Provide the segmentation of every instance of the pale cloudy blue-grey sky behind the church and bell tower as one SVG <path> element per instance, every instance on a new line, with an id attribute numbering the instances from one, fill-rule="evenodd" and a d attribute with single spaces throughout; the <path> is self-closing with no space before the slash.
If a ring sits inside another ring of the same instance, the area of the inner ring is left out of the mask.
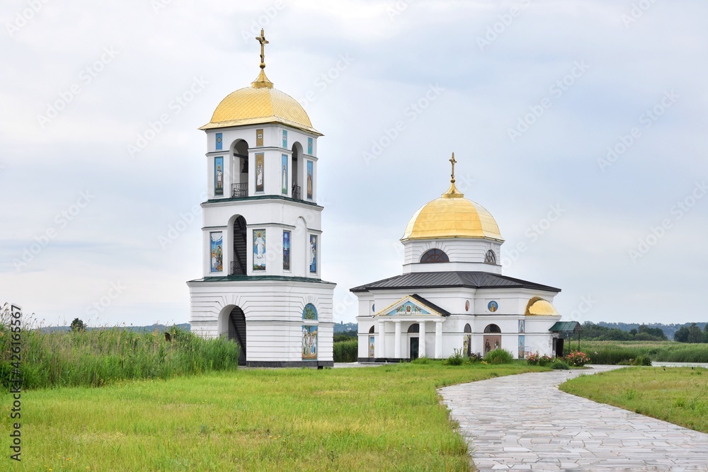
<path id="1" fill-rule="evenodd" d="M 577 321 L 707 321 L 704 0 L 6 0 L 0 303 L 45 325 L 189 321 L 206 139 L 258 76 L 316 129 L 322 277 L 401 273 L 457 185 L 505 275 Z M 160 122 L 166 116 L 166 122 Z M 136 151 L 137 149 L 137 151 Z"/>

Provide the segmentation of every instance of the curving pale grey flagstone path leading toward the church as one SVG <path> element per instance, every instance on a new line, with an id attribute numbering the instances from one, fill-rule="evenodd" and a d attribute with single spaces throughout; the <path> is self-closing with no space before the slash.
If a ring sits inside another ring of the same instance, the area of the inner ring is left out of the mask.
<path id="1" fill-rule="evenodd" d="M 616 368 L 510 375 L 440 394 L 480 471 L 708 471 L 708 434 L 556 388 Z"/>

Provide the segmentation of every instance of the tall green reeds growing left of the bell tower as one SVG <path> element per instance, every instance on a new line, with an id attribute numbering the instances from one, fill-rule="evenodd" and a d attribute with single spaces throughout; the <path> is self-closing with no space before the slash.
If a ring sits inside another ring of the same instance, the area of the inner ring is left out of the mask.
<path id="1" fill-rule="evenodd" d="M 239 345 L 205 340 L 173 328 L 164 333 L 121 328 L 90 331 L 25 330 L 21 333 L 21 375 L 25 388 L 102 386 L 121 379 L 171 379 L 212 370 L 234 370 Z M 11 377 L 11 333 L 0 326 L 0 389 Z"/>

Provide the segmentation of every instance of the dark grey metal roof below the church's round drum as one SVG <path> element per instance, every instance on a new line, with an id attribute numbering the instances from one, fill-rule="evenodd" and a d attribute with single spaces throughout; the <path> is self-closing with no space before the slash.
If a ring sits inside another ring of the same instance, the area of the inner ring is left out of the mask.
<path id="1" fill-rule="evenodd" d="M 351 292 L 368 292 L 385 289 L 432 289 L 446 287 L 467 287 L 472 289 L 536 289 L 546 292 L 560 292 L 561 289 L 548 285 L 527 282 L 490 272 L 413 272 L 396 275 L 388 279 L 354 287 Z"/>

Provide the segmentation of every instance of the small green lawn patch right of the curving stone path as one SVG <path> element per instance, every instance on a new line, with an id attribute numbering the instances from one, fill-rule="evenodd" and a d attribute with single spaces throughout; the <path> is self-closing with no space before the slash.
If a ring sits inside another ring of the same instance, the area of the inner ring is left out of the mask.
<path id="1" fill-rule="evenodd" d="M 573 395 L 615 405 L 708 432 L 708 370 L 697 367 L 627 367 L 585 375 L 559 387 Z"/>

